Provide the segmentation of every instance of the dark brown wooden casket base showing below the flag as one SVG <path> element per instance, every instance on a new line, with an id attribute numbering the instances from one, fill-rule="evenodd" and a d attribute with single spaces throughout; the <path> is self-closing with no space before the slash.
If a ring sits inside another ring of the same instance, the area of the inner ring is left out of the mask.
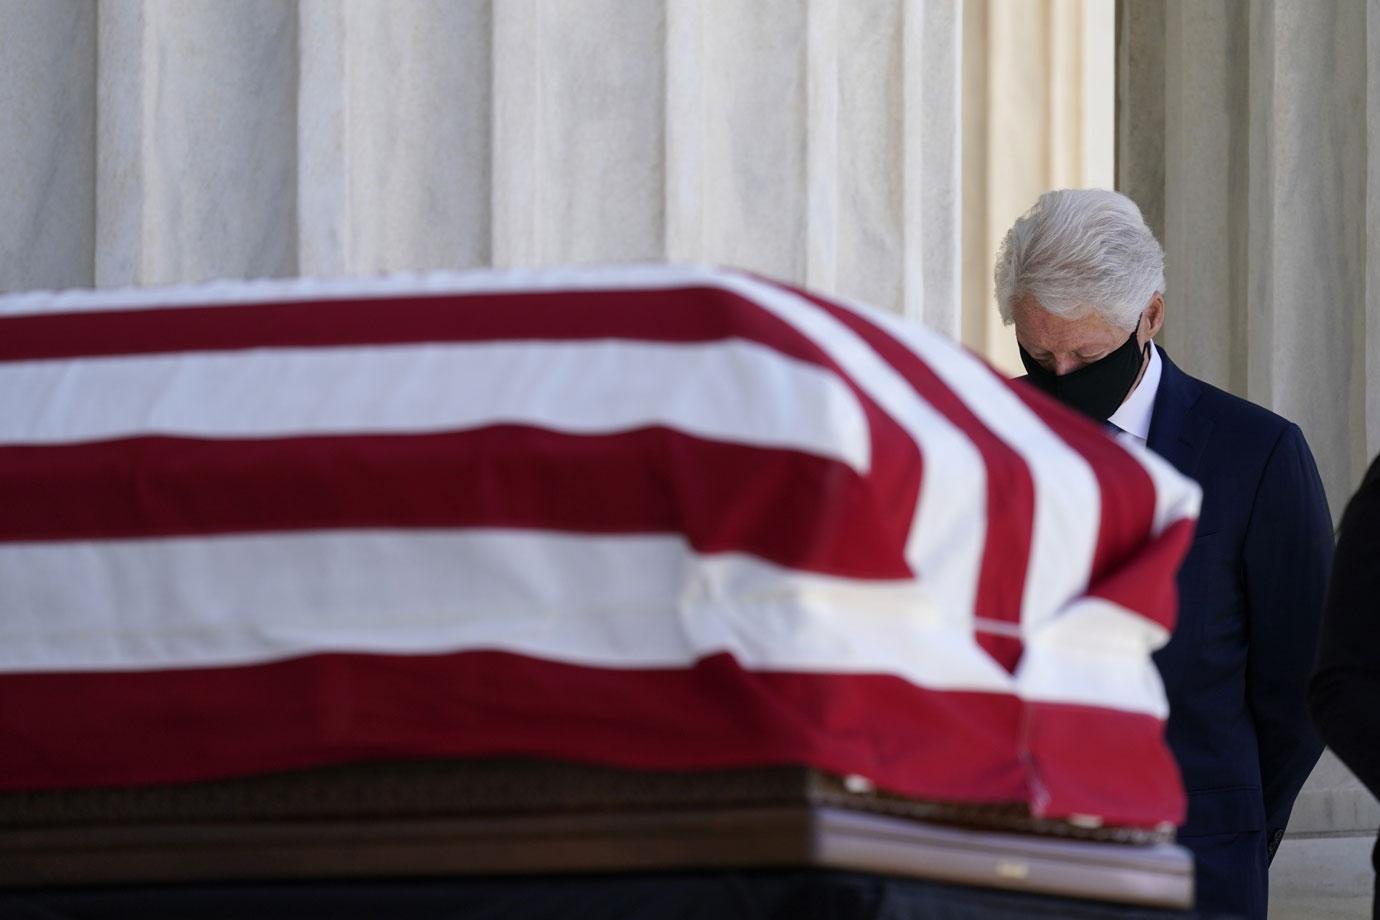
<path id="1" fill-rule="evenodd" d="M 1014 807 L 878 794 L 799 767 L 357 764 L 0 793 L 0 886 L 814 866 L 1185 908 L 1187 851 Z"/>

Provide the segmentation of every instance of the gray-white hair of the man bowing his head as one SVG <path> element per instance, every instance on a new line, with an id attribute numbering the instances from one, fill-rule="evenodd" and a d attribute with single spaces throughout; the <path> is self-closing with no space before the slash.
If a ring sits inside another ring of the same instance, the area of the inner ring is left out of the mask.
<path id="1" fill-rule="evenodd" d="M 995 280 L 1007 326 L 1016 302 L 1032 297 L 1056 316 L 1092 308 L 1130 331 L 1165 291 L 1165 252 L 1125 194 L 1061 189 L 1039 196 L 1006 232 Z"/>

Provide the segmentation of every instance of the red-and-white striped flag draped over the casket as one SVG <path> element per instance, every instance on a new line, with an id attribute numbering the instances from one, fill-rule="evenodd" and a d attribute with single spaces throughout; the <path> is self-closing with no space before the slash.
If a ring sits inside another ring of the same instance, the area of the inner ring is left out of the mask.
<path id="1" fill-rule="evenodd" d="M 0 298 L 0 789 L 518 754 L 1174 822 L 1196 508 L 741 273 Z"/>

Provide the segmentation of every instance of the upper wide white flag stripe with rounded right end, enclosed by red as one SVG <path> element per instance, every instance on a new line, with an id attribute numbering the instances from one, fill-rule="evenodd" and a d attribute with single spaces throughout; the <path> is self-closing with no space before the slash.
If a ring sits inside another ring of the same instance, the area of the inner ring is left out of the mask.
<path id="1" fill-rule="evenodd" d="M 253 349 L 0 363 L 0 443 L 275 437 L 516 423 L 664 425 L 865 473 L 871 440 L 832 371 L 748 341 L 595 339 Z"/>

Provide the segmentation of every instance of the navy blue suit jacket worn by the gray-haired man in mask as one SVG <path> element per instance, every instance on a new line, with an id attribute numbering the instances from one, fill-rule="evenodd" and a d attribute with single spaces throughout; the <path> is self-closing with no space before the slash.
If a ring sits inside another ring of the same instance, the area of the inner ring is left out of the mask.
<path id="1" fill-rule="evenodd" d="M 1179 626 L 1155 657 L 1188 792 L 1181 837 L 1264 830 L 1272 854 L 1322 753 L 1305 697 L 1332 516 L 1297 425 L 1161 357 L 1148 447 L 1203 488 Z"/>

